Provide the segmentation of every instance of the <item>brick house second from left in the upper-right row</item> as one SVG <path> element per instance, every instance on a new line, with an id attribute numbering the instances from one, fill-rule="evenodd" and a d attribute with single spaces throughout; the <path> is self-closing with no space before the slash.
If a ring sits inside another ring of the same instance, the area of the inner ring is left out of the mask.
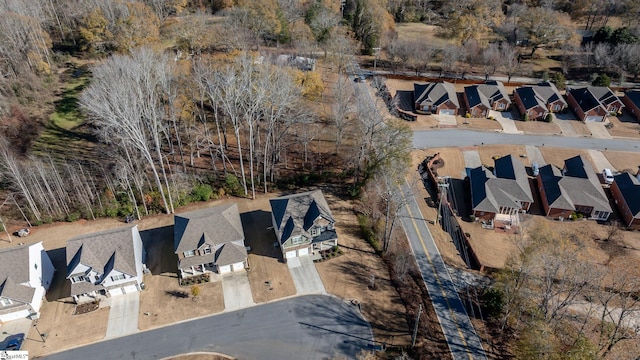
<path id="1" fill-rule="evenodd" d="M 511 107 L 511 99 L 501 81 L 466 86 L 463 98 L 467 113 L 476 118 L 488 117 L 490 110 L 506 111 Z"/>

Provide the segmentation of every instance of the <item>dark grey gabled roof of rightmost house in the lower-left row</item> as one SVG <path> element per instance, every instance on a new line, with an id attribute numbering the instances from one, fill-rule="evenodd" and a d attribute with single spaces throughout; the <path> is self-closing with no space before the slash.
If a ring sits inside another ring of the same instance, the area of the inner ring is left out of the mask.
<path id="1" fill-rule="evenodd" d="M 309 230 L 318 217 L 335 222 L 320 190 L 281 196 L 269 202 L 275 220 L 274 230 L 281 244 L 291 236 L 305 235 L 310 238 Z"/>

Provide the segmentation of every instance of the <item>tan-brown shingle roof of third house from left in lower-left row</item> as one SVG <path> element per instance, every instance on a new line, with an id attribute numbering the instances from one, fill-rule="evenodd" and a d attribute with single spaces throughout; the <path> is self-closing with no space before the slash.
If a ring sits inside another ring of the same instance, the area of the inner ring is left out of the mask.
<path id="1" fill-rule="evenodd" d="M 174 219 L 173 249 L 176 253 L 198 249 L 205 243 L 215 246 L 244 240 L 237 204 L 176 214 Z"/>

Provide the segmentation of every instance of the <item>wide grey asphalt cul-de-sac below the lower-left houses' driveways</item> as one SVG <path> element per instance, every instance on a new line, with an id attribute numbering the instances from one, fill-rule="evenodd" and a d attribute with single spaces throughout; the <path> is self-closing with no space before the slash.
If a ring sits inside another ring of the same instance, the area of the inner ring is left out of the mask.
<path id="1" fill-rule="evenodd" d="M 372 341 L 371 326 L 355 306 L 332 296 L 308 295 L 102 341 L 44 359 L 162 359 L 195 351 L 246 360 L 355 359 Z"/>

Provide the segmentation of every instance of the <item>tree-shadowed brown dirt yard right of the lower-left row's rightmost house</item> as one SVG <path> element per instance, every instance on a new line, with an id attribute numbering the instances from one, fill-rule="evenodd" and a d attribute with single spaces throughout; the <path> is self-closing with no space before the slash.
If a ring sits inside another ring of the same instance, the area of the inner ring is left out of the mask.
<path id="1" fill-rule="evenodd" d="M 334 196 L 327 196 L 327 201 L 336 219 L 338 243 L 344 254 L 316 263 L 325 289 L 342 299 L 358 300 L 377 340 L 406 346 L 410 343 L 410 330 L 405 308 L 386 264 L 362 238 L 353 204 Z M 369 287 L 373 276 L 375 290 Z"/>

